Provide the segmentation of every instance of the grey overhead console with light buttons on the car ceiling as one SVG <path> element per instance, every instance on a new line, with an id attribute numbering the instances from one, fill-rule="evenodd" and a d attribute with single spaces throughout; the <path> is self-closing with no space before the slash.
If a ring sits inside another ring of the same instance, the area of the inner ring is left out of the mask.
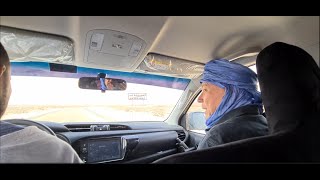
<path id="1" fill-rule="evenodd" d="M 142 39 L 123 32 L 102 29 L 87 33 L 84 62 L 129 70 L 146 47 Z"/>

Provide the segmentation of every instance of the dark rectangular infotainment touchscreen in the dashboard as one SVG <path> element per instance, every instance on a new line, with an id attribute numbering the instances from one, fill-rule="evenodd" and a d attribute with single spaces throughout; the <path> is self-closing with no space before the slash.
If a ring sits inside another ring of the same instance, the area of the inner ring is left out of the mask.
<path id="1" fill-rule="evenodd" d="M 91 139 L 88 141 L 88 163 L 121 159 L 121 139 Z"/>

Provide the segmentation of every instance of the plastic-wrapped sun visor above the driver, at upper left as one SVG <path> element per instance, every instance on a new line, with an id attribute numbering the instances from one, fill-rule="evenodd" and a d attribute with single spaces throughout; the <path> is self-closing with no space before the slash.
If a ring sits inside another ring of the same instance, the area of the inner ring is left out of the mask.
<path id="1" fill-rule="evenodd" d="M 66 37 L 0 26 L 0 40 L 10 61 L 73 64 L 74 45 Z"/>

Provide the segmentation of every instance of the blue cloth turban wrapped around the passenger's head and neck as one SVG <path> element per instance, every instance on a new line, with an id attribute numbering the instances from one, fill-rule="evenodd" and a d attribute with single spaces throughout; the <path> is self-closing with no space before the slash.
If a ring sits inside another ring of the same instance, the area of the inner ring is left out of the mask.
<path id="1" fill-rule="evenodd" d="M 257 91 L 257 74 L 248 67 L 227 60 L 212 60 L 204 67 L 201 83 L 225 89 L 216 111 L 207 119 L 207 128 L 215 125 L 227 112 L 245 105 L 258 105 L 262 113 L 261 94 Z"/>

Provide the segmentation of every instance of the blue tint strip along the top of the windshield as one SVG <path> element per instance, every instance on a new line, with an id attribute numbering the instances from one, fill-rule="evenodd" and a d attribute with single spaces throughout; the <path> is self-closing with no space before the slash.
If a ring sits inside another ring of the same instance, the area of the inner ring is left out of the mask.
<path id="1" fill-rule="evenodd" d="M 190 79 L 175 78 L 151 74 L 119 72 L 104 69 L 77 67 L 77 73 L 50 71 L 49 63 L 45 62 L 11 62 L 13 76 L 40 76 L 40 77 L 96 77 L 98 73 L 106 73 L 109 78 L 124 79 L 128 83 L 154 85 L 185 90 Z"/>

